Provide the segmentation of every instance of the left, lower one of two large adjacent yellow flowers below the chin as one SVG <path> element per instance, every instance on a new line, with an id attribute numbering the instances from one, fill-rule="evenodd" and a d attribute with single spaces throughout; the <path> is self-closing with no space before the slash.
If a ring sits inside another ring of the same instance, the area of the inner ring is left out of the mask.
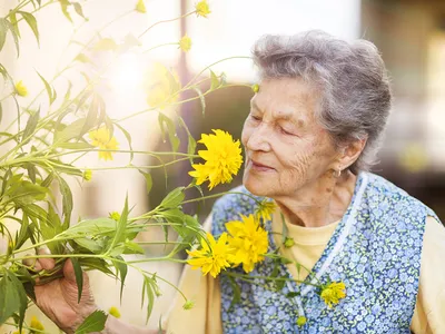
<path id="1" fill-rule="evenodd" d="M 208 244 L 202 238 L 201 249 L 187 250 L 190 258 L 187 261 L 194 269 L 201 268 L 202 275 L 210 273 L 216 277 L 218 274 L 230 266 L 228 259 L 230 257 L 230 248 L 227 245 L 227 233 L 222 233 L 218 242 L 214 236 L 207 233 Z"/>

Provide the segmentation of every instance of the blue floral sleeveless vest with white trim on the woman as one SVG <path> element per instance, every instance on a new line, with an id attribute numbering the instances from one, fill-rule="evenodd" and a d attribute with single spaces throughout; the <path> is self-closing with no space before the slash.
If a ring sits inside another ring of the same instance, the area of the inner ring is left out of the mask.
<path id="1" fill-rule="evenodd" d="M 247 193 L 243 187 L 237 190 Z M 226 222 L 253 214 L 255 208 L 248 196 L 224 196 L 214 206 L 212 234 L 221 234 Z M 428 215 L 436 217 L 424 204 L 384 178 L 360 173 L 352 203 L 313 268 L 315 277 L 312 276 L 314 283 L 343 281 L 346 298 L 328 308 L 310 285 L 288 281 L 278 289 L 271 281 L 257 278 L 258 284 L 251 284 L 235 279 L 241 301 L 230 306 L 234 287 L 222 274 L 224 332 L 409 333 Z M 270 223 L 265 224 L 269 232 Z M 269 233 L 269 252 L 276 248 Z M 250 275 L 270 276 L 273 269 L 273 261 L 266 258 Z M 285 265 L 280 264 L 278 269 L 279 276 L 291 277 Z M 244 273 L 240 267 L 230 271 Z M 293 294 L 288 295 L 289 292 Z M 303 326 L 296 324 L 299 315 L 307 318 Z"/>

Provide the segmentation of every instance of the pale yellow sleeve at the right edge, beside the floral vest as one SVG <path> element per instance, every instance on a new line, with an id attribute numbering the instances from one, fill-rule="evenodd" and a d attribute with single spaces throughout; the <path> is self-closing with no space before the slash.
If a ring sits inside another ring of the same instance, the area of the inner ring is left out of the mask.
<path id="1" fill-rule="evenodd" d="M 421 279 L 412 321 L 415 334 L 445 333 L 445 227 L 426 218 Z"/>

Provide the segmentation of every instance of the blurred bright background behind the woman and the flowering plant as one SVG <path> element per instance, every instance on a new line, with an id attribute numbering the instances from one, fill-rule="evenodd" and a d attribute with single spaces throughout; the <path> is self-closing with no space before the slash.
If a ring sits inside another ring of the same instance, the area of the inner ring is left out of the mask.
<path id="1" fill-rule="evenodd" d="M 16 6 L 16 1 L 0 0 L 0 14 Z M 42 1 L 44 3 L 46 1 Z M 52 1 L 57 2 L 57 1 Z M 29 100 L 42 88 L 36 73 L 52 77 L 79 52 L 73 40 L 88 40 L 95 31 L 122 12 L 131 11 L 136 0 L 88 0 L 80 1 L 88 22 L 75 19 L 69 22 L 53 3 L 37 13 L 40 29 L 40 49 L 32 32 L 22 29 L 21 55 L 17 58 L 10 36 L 0 57 L 12 77 L 26 82 L 30 91 Z M 147 13 L 131 13 L 109 26 L 102 37 L 122 40 L 128 33 L 139 36 L 147 27 L 159 20 L 169 20 L 192 10 L 192 0 L 147 0 Z M 264 33 L 296 33 L 308 29 L 322 29 L 346 40 L 364 38 L 373 41 L 382 51 L 389 70 L 395 96 L 394 110 L 380 151 L 380 163 L 374 173 L 382 175 L 404 188 L 432 207 L 445 222 L 445 2 L 442 0 L 210 0 L 208 19 L 188 17 L 155 27 L 141 39 L 140 50 L 121 57 L 109 72 L 111 90 L 107 90 L 108 112 L 112 118 L 123 118 L 130 112 L 146 108 L 144 80 L 148 69 L 156 62 L 172 67 L 181 82 L 197 75 L 206 66 L 226 57 L 249 56 L 254 41 Z M 32 9 L 32 8 L 31 8 Z M 192 40 L 191 50 L 180 52 L 177 46 L 166 46 L 149 55 L 144 50 L 159 43 L 175 42 L 187 33 Z M 100 59 L 101 60 L 101 59 Z M 82 85 L 79 75 L 86 68 L 77 68 L 67 78 L 73 85 Z M 256 82 L 255 69 L 248 59 L 231 59 L 212 68 L 225 72 L 228 84 Z M 206 72 L 205 75 L 208 75 Z M 56 89 L 65 89 L 67 80 L 55 82 Z M 3 87 L 3 89 L 6 89 Z M 194 94 L 186 96 L 192 97 Z M 219 128 L 240 138 L 243 121 L 249 112 L 253 92 L 248 86 L 229 87 L 206 97 L 206 116 L 202 117 L 198 100 L 181 106 L 181 115 L 196 139 L 202 132 Z M 10 105 L 9 105 L 10 104 Z M 1 126 L 11 121 L 13 102 L 4 101 Z M 47 98 L 36 101 L 41 106 Z M 166 110 L 166 112 L 169 112 Z M 128 119 L 122 126 L 131 132 L 134 149 L 169 150 L 169 143 L 160 135 L 157 114 L 145 114 Z M 178 132 L 181 150 L 186 150 L 186 137 Z M 125 143 L 125 138 L 119 138 Z M 97 156 L 86 157 L 79 166 L 110 167 L 125 166 L 128 155 L 117 155 L 112 163 L 97 160 Z M 137 156 L 135 164 L 150 165 L 147 156 Z M 140 214 L 156 206 L 165 195 L 177 186 L 190 181 L 187 173 L 189 164 L 177 164 L 168 168 L 168 180 L 164 171 L 154 169 L 154 186 L 146 193 L 144 177 L 136 170 L 95 170 L 89 183 L 71 185 L 76 188 L 75 217 L 108 216 L 121 210 L 128 191 L 134 214 Z M 218 186 L 217 191 L 228 190 L 241 183 L 241 173 L 228 186 Z M 189 194 L 189 198 L 199 193 Z M 204 222 L 212 200 L 190 205 L 186 210 L 198 214 Z M 75 220 L 73 220 L 75 222 Z M 161 232 L 150 232 L 141 236 L 150 240 L 159 238 Z M 159 255 L 162 249 L 147 248 L 146 256 Z M 176 283 L 180 266 L 170 263 L 151 264 L 160 276 L 168 276 Z M 137 273 L 130 273 L 119 305 L 119 288 L 113 281 L 101 275 L 92 275 L 92 285 L 98 303 L 103 308 L 118 306 L 122 317 L 144 324 L 145 311 L 139 308 L 140 283 Z M 156 326 L 159 316 L 171 304 L 174 292 L 164 286 L 165 294 L 156 304 L 150 325 Z"/>

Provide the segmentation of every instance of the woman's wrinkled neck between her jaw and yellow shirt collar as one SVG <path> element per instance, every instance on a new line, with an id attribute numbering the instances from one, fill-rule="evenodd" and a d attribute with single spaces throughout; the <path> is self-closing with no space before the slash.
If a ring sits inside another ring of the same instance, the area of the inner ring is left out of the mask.
<path id="1" fill-rule="evenodd" d="M 277 197 L 275 202 L 291 224 L 325 226 L 344 216 L 353 198 L 356 179 L 348 170 L 338 178 L 328 173 L 293 196 Z"/>

